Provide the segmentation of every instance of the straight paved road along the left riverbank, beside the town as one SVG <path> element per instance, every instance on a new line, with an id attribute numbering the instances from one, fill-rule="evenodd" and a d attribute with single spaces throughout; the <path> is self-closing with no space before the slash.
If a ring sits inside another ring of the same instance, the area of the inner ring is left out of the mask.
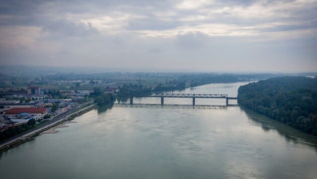
<path id="1" fill-rule="evenodd" d="M 3 147 L 3 146 L 5 146 L 5 145 L 7 145 L 7 144 L 9 144 L 9 143 L 11 143 L 11 142 L 14 142 L 14 141 L 16 141 L 16 140 L 19 139 L 19 138 L 28 136 L 28 135 L 32 134 L 34 131 L 39 130 L 39 129 L 43 129 L 43 128 L 45 128 L 45 127 L 51 125 L 52 123 L 55 123 L 55 122 L 57 122 L 57 121 L 60 121 L 61 119 L 65 118 L 66 116 L 68 116 L 68 115 L 71 114 L 72 112 L 74 112 L 74 111 L 80 109 L 82 106 L 85 106 L 85 105 L 87 105 L 87 104 L 89 104 L 89 103 L 92 103 L 92 101 L 87 102 L 87 103 L 84 103 L 84 104 L 81 104 L 81 105 L 78 105 L 78 106 L 75 107 L 75 108 L 71 108 L 71 109 L 67 110 L 65 113 L 62 113 L 62 114 L 60 114 L 60 115 L 58 115 L 58 116 L 53 117 L 50 121 L 48 121 L 48 122 L 46 122 L 46 123 L 44 123 L 44 124 L 42 124 L 42 125 L 40 125 L 40 126 L 38 126 L 38 127 L 36 127 L 36 128 L 33 128 L 33 129 L 28 130 L 28 131 L 26 131 L 26 132 L 23 132 L 23 133 L 20 133 L 20 134 L 18 134 L 18 135 L 15 135 L 15 136 L 13 136 L 13 137 L 11 137 L 11 138 L 9 138 L 9 139 L 6 139 L 6 140 L 4 140 L 4 141 L 1 141 L 1 142 L 0 142 L 0 147 Z"/>

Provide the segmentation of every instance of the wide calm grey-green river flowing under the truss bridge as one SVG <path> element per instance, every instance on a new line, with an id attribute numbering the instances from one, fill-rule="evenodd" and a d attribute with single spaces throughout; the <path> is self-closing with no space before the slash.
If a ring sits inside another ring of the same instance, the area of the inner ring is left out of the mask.
<path id="1" fill-rule="evenodd" d="M 175 93 L 236 97 L 243 84 L 207 84 Z M 161 99 L 134 99 L 134 104 L 143 103 L 161 104 Z M 58 133 L 40 135 L 1 153 L 0 177 L 317 176 L 315 136 L 239 106 L 219 107 L 225 105 L 224 99 L 196 99 L 195 108 L 190 106 L 192 99 L 166 98 L 165 104 L 116 104 L 90 111 Z"/>

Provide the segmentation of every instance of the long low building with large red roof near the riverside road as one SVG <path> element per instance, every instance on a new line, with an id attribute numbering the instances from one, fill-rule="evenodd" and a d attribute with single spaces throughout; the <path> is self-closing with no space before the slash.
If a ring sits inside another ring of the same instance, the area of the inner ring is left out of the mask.
<path id="1" fill-rule="evenodd" d="M 12 108 L 10 110 L 7 110 L 4 112 L 4 115 L 6 117 L 9 116 L 17 116 L 18 114 L 21 113 L 28 113 L 29 115 L 36 116 L 36 118 L 42 118 L 47 114 L 47 109 L 46 108 Z"/>

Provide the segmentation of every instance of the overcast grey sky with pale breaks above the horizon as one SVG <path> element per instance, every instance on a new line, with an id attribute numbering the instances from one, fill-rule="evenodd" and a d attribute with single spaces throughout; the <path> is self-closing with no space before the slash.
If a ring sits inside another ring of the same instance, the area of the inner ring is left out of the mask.
<path id="1" fill-rule="evenodd" d="M 317 0 L 1 1 L 0 60 L 140 71 L 316 72 Z"/>

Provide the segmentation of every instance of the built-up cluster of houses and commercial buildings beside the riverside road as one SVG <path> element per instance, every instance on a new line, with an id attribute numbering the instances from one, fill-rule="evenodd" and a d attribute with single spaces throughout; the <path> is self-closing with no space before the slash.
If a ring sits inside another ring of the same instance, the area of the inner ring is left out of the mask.
<path id="1" fill-rule="evenodd" d="M 1 132 L 14 127 L 15 132 L 13 133 L 18 133 L 21 131 L 21 127 L 23 130 L 26 125 L 31 127 L 45 123 L 52 117 L 87 102 L 89 95 L 89 91 L 50 93 L 41 86 L 31 85 L 27 86 L 26 94 L 23 88 L 19 93 L 11 91 L 0 99 Z"/>

